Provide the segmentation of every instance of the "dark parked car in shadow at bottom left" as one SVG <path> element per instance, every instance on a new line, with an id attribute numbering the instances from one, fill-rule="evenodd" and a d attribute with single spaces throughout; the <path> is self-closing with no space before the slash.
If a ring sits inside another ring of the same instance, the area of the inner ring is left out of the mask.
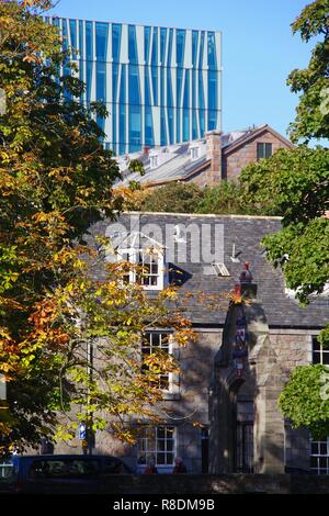
<path id="1" fill-rule="evenodd" d="M 132 473 L 111 456 L 14 456 L 0 478 L 0 492 L 100 493 L 106 475 Z"/>

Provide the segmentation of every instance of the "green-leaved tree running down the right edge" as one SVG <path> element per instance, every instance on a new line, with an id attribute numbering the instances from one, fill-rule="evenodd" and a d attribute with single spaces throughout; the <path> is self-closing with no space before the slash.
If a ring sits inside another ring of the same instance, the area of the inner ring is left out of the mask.
<path id="1" fill-rule="evenodd" d="M 317 0 L 292 24 L 303 41 L 318 38 L 308 67 L 292 71 L 287 80 L 292 91 L 299 93 L 291 137 L 303 145 L 280 150 L 241 173 L 248 202 L 264 202 L 283 217 L 282 229 L 266 236 L 263 246 L 302 304 L 321 294 L 329 280 L 329 152 L 306 145 L 311 138 L 329 136 L 328 21 L 329 1 Z M 329 325 L 318 339 L 329 345 Z M 280 399 L 293 425 L 309 428 L 317 438 L 329 434 L 329 395 L 321 394 L 324 379 L 328 382 L 322 366 L 298 368 Z"/>

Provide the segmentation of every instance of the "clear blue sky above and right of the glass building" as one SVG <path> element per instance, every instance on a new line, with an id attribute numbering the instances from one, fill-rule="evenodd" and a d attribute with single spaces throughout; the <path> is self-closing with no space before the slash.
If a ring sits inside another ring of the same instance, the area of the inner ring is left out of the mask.
<path id="1" fill-rule="evenodd" d="M 286 135 L 297 96 L 286 86 L 314 42 L 291 23 L 310 0 L 60 0 L 59 16 L 223 32 L 223 130 L 270 124 Z"/>

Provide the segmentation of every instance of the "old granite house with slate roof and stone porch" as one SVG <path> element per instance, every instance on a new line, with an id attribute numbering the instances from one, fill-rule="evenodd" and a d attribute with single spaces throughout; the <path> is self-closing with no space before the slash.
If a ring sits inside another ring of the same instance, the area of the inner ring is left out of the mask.
<path id="1" fill-rule="evenodd" d="M 158 242 L 144 288 L 154 295 L 177 284 L 197 336 L 196 343 L 180 348 L 171 328 L 148 332 L 141 355 L 144 348 L 161 349 L 180 363 L 180 372 L 166 379 L 156 407 L 161 424 L 145 420 L 133 447 L 117 441 L 110 428 L 97 433 L 95 453 L 123 457 L 138 472 L 148 459 L 159 473 L 171 472 L 180 456 L 190 473 L 329 474 L 329 439 L 315 441 L 306 430 L 293 429 L 277 407 L 297 366 L 329 363 L 329 350 L 317 341 L 329 317 L 328 289 L 300 307 L 260 247 L 262 237 L 280 227 L 280 217 L 174 213 L 122 214 L 114 223 L 90 227 L 90 246 L 97 235 L 105 235 L 118 256 L 129 260 L 143 256 L 144 238 Z M 173 233 L 163 242 L 170 228 Z M 136 232 L 140 238 L 131 239 Z M 216 235 L 219 253 L 212 257 Z M 139 247 L 128 249 L 129 240 Z M 226 294 L 239 283 L 245 262 L 250 263 L 252 284 L 246 303 L 235 304 Z M 208 305 L 204 295 L 218 296 L 218 302 Z M 78 436 L 69 448 L 56 449 L 68 450 L 81 453 Z"/>

